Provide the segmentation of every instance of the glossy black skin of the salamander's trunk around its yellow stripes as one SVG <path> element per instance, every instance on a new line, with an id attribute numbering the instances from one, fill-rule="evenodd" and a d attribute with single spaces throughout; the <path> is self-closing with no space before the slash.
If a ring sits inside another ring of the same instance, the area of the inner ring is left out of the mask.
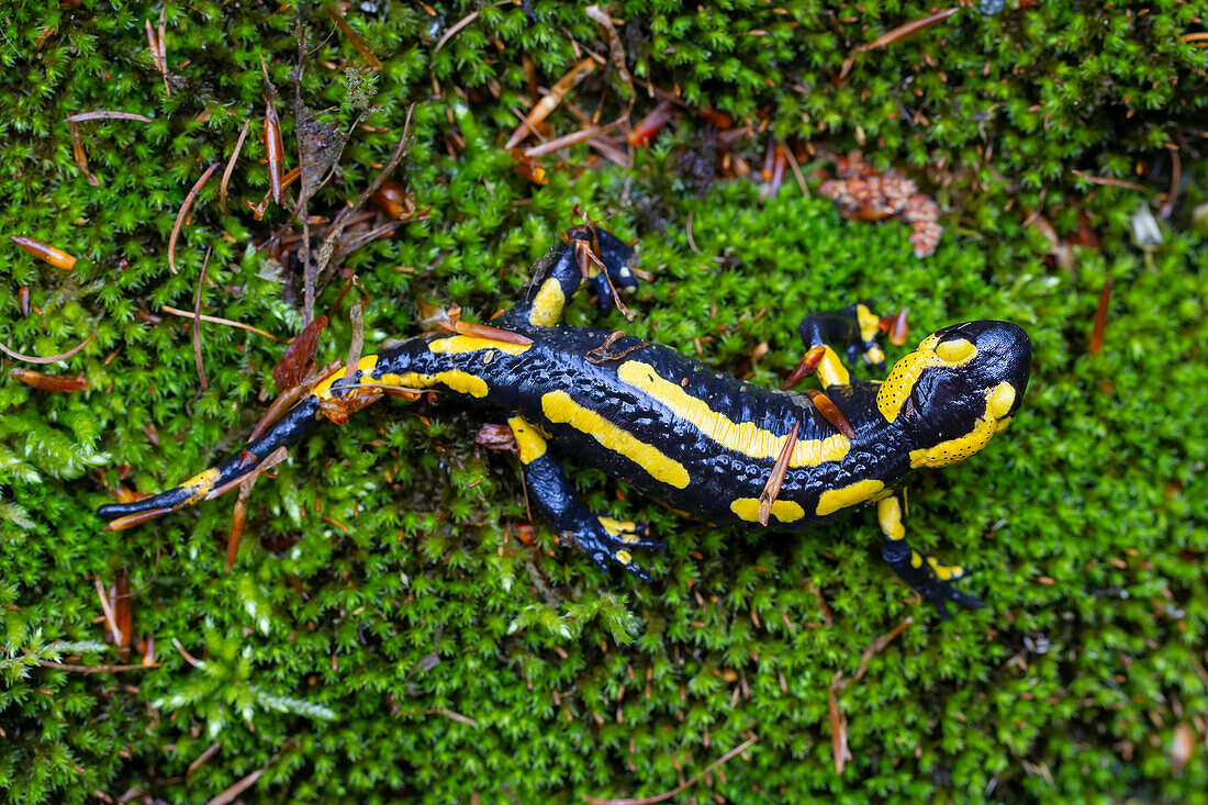
<path id="1" fill-rule="evenodd" d="M 731 511 L 730 502 L 736 497 L 757 498 L 776 457 L 755 459 L 721 447 L 676 417 L 666 405 L 617 378 L 616 367 L 620 364 L 650 364 L 661 377 L 676 386 L 686 378 L 687 384 L 681 386 L 685 392 L 704 400 L 713 410 L 725 412 L 734 422 L 754 422 L 782 436 L 789 434 L 794 422 L 798 422 L 800 440 L 826 439 L 836 434 L 806 394 L 777 392 L 739 381 L 663 346 L 644 346 L 618 360 L 593 365 L 583 355 L 599 347 L 609 336 L 609 330 L 528 325 L 509 329 L 532 337 L 533 347 L 521 355 L 495 352 L 490 363 L 483 365 L 482 353 L 445 355 L 428 352 L 430 341 L 446 336 L 417 338 L 382 353 L 373 376 L 408 371 L 436 373 L 451 367 L 472 372 L 490 387 L 490 395 L 484 400 L 487 405 L 518 413 L 539 425 L 548 434 L 551 447 L 614 477 L 625 479 L 674 509 L 719 523 L 741 522 Z M 615 342 L 611 348 L 623 352 L 644 343 L 631 336 Z M 855 429 L 852 450 L 842 462 L 790 469 L 778 499 L 796 500 L 808 512 L 814 510 L 818 496 L 826 490 L 869 477 L 879 479 L 888 486 L 906 473 L 910 468 L 905 452 L 907 440 L 876 413 L 876 383 L 854 381 L 848 388 L 827 393 Z M 623 423 L 625 430 L 635 439 L 680 462 L 692 482 L 678 490 L 657 481 L 640 464 L 605 448 L 591 435 L 568 424 L 551 422 L 541 406 L 541 396 L 551 389 L 565 390 L 583 407 L 610 422 Z M 472 398 L 465 399 L 474 401 Z M 807 516 L 788 525 L 773 521 L 771 527 L 792 531 L 821 519 Z"/>

